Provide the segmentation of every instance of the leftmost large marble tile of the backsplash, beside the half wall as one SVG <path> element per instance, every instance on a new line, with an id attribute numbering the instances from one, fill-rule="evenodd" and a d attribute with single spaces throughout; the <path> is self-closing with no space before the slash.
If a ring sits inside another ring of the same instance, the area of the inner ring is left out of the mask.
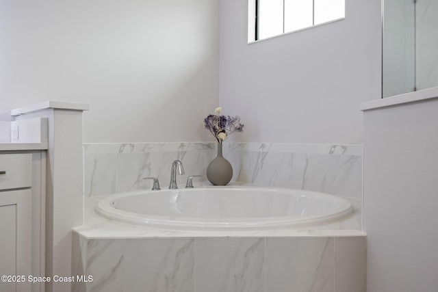
<path id="1" fill-rule="evenodd" d="M 117 191 L 116 153 L 85 153 L 83 167 L 86 197 L 114 194 Z"/>

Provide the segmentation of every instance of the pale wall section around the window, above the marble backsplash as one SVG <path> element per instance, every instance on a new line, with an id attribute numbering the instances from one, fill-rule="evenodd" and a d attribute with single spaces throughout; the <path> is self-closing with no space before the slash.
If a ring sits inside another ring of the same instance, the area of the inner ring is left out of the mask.
<path id="1" fill-rule="evenodd" d="M 346 19 L 247 44 L 247 0 L 220 1 L 220 104 L 247 142 L 362 143 L 359 103 L 381 96 L 381 1 Z"/>

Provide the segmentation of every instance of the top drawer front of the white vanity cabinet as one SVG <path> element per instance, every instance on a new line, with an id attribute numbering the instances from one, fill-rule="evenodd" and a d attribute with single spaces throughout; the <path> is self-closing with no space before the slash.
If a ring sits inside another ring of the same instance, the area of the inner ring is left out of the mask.
<path id="1" fill-rule="evenodd" d="M 0 154 L 0 190 L 30 187 L 31 184 L 31 153 Z"/>

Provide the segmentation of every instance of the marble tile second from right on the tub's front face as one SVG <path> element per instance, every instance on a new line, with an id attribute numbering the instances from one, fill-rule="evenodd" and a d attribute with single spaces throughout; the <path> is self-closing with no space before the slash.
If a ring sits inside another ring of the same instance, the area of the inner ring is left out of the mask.
<path id="1" fill-rule="evenodd" d="M 266 291 L 334 291 L 333 238 L 266 239 Z"/>

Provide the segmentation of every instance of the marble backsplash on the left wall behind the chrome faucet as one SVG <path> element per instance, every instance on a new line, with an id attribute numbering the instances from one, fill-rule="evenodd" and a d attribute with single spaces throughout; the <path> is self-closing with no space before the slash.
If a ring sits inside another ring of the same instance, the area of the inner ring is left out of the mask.
<path id="1" fill-rule="evenodd" d="M 199 181 L 205 181 L 213 147 L 208 143 L 83 144 L 85 196 L 151 189 L 152 182 L 142 179 L 149 176 L 167 188 L 175 159 L 183 162 L 185 170 L 178 176 L 179 185 L 184 186 L 189 175 L 201 174 Z"/>

